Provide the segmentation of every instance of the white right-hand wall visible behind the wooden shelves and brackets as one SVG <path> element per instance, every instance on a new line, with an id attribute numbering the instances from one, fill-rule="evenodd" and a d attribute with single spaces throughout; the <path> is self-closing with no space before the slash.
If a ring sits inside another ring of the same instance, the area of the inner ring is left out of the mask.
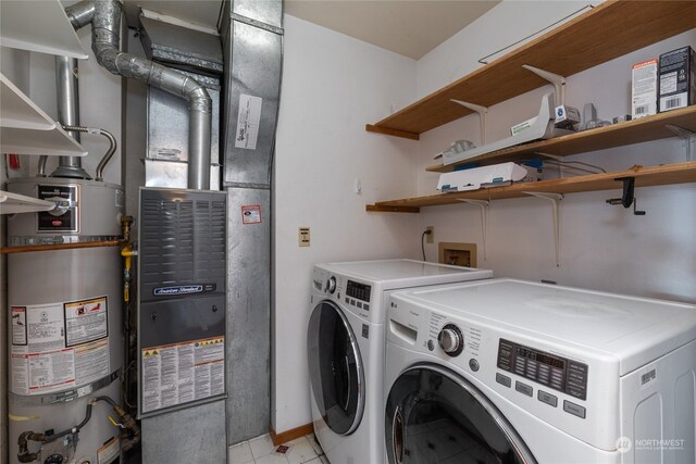
<path id="1" fill-rule="evenodd" d="M 570 3 L 560 3 L 542 2 L 526 9 L 521 2 L 504 1 L 419 61 L 419 95 L 452 80 L 451 70 L 475 68 L 477 58 L 498 47 L 499 36 L 513 41 L 517 34 L 519 37 L 527 34 L 527 24 L 552 22 L 558 8 L 573 10 Z M 495 41 L 495 46 L 490 46 L 488 39 Z M 630 112 L 631 65 L 684 45 L 696 48 L 696 29 L 571 76 L 567 102 L 580 109 L 586 102 L 594 102 L 605 120 L 625 114 Z M 547 86 L 493 106 L 488 141 L 507 137 L 512 124 L 535 115 L 542 95 L 551 90 Z M 456 139 L 480 143 L 476 115 L 422 135 L 420 166 L 435 164 L 435 153 Z M 625 170 L 634 164 L 686 161 L 685 145 L 676 138 L 570 159 L 591 162 L 608 171 Z M 437 176 L 419 170 L 418 193 L 435 193 Z M 636 189 L 638 206 L 647 211 L 646 216 L 634 216 L 629 210 L 605 203 L 606 199 L 620 196 L 620 190 L 566 196 L 560 267 L 555 264 L 551 209 L 545 200 L 492 202 L 487 260 L 483 260 L 483 234 L 476 206 L 423 209 L 419 229 L 426 225 L 435 227 L 435 244 L 426 246 L 433 261 L 438 241 L 475 242 L 480 250 L 478 266 L 494 269 L 497 276 L 549 279 L 561 285 L 696 302 L 696 185 Z"/>

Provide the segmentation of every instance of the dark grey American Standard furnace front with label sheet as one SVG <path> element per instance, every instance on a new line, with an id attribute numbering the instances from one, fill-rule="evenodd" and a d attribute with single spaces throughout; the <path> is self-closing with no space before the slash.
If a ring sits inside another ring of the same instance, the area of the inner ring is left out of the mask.
<path id="1" fill-rule="evenodd" d="M 226 192 L 140 189 L 139 415 L 225 394 Z"/>

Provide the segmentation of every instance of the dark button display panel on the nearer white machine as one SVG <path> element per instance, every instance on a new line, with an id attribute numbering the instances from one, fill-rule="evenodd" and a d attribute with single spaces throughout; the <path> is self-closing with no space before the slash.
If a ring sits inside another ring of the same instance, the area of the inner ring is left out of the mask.
<path id="1" fill-rule="evenodd" d="M 587 364 L 500 339 L 498 367 L 580 400 L 587 399 Z"/>

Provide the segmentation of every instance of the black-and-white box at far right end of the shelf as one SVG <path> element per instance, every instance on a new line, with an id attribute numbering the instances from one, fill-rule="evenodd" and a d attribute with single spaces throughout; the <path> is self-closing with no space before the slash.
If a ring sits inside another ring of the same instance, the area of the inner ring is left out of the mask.
<path id="1" fill-rule="evenodd" d="M 660 55 L 660 113 L 696 103 L 696 57 L 682 47 Z"/>

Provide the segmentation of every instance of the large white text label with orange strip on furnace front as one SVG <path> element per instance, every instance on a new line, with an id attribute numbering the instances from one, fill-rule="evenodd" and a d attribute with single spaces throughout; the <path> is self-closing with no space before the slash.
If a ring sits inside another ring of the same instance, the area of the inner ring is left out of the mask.
<path id="1" fill-rule="evenodd" d="M 225 392 L 225 338 L 142 349 L 142 412 Z"/>

